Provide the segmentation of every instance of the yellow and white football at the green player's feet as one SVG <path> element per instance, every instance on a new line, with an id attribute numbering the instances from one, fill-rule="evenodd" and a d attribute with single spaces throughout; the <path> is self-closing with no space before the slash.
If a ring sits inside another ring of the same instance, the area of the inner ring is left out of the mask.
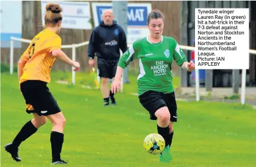
<path id="1" fill-rule="evenodd" d="M 165 139 L 157 133 L 151 133 L 144 138 L 143 146 L 149 154 L 157 155 L 165 148 Z"/>

